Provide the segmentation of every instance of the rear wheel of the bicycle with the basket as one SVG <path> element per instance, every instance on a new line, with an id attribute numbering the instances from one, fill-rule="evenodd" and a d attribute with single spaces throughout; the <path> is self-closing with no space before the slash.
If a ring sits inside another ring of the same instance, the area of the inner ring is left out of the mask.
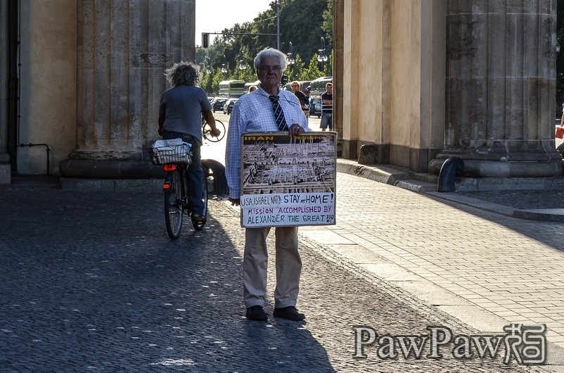
<path id="1" fill-rule="evenodd" d="M 178 239 L 182 231 L 183 219 L 183 190 L 184 181 L 180 170 L 168 172 L 165 182 L 170 183 L 168 191 L 164 192 L 164 222 L 166 232 L 171 239 Z"/>

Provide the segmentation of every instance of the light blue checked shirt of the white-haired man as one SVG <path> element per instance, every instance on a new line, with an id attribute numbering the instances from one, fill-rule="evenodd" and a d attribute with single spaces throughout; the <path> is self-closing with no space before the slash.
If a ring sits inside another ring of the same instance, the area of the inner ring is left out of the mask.
<path id="1" fill-rule="evenodd" d="M 311 131 L 307 126 L 307 118 L 298 97 L 282 89 L 278 89 L 278 96 L 288 127 L 297 123 L 305 131 Z M 269 94 L 260 87 L 260 84 L 256 91 L 241 96 L 235 102 L 229 118 L 225 174 L 230 198 L 240 198 L 241 195 L 241 134 L 246 132 L 278 132 L 278 125 L 272 112 L 272 102 Z"/>

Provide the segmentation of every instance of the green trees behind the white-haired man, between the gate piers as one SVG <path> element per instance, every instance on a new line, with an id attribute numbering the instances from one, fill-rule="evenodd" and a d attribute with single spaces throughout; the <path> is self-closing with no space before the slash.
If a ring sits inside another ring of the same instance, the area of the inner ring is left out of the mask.
<path id="1" fill-rule="evenodd" d="M 279 3 L 279 4 L 278 4 Z M 290 52 L 295 58 L 288 65 L 285 74 L 288 81 L 314 80 L 320 76 L 332 75 L 333 54 L 333 0 L 278 0 L 272 1 L 270 8 L 259 13 L 252 22 L 235 24 L 221 30 L 223 34 L 214 37 L 209 48 L 196 47 L 196 63 L 200 65 L 200 86 L 209 94 L 217 93 L 221 80 L 245 80 L 255 82 L 257 75 L 252 62 L 259 51 L 267 47 L 277 47 L 276 13 L 279 6 L 280 37 L 279 49 Z M 212 32 L 212 30 L 209 30 Z M 321 47 L 321 37 L 325 40 L 325 50 L 329 61 L 317 61 Z M 240 61 L 247 67 L 240 70 Z M 211 72 L 207 72 L 207 68 Z M 226 73 L 221 68 L 227 69 Z"/>

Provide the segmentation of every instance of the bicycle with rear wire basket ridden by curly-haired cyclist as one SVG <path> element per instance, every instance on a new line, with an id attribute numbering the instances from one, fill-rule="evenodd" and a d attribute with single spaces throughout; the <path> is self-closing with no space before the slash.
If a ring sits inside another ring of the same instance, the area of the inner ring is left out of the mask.
<path id="1" fill-rule="evenodd" d="M 159 141 L 164 142 L 159 143 Z M 185 174 L 188 172 L 188 166 L 192 163 L 192 153 L 190 153 L 190 144 L 184 143 L 182 139 L 159 141 L 155 142 L 154 146 L 148 148 L 148 150 L 151 154 L 153 164 L 162 165 L 164 169 L 163 192 L 166 232 L 171 239 L 178 239 L 180 232 L 182 232 L 183 217 L 191 213 L 188 203 L 188 191 L 190 186 L 186 181 Z M 161 144 L 166 145 L 161 146 Z M 203 219 L 192 220 L 192 226 L 197 231 L 204 229 L 207 217 L 208 172 L 205 172 L 202 168 L 202 173 L 204 175 L 204 191 L 202 193 L 202 202 L 204 204 L 204 211 L 202 212 Z"/>

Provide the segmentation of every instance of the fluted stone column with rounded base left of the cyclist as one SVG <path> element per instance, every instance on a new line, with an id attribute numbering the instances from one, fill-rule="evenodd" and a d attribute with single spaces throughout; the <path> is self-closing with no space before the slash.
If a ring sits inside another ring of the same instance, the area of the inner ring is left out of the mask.
<path id="1" fill-rule="evenodd" d="M 78 1 L 77 148 L 63 176 L 147 176 L 164 69 L 194 61 L 194 33 L 195 0 Z"/>

